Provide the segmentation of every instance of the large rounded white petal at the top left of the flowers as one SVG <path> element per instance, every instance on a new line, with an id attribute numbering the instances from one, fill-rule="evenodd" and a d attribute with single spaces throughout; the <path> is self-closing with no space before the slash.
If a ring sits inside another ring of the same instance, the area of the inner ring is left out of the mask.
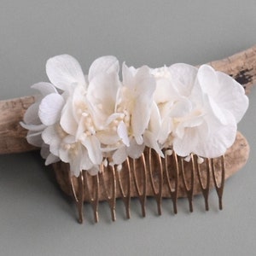
<path id="1" fill-rule="evenodd" d="M 68 90 L 70 84 L 85 85 L 84 73 L 77 61 L 71 55 L 57 55 L 46 63 L 46 73 L 55 87 Z"/>

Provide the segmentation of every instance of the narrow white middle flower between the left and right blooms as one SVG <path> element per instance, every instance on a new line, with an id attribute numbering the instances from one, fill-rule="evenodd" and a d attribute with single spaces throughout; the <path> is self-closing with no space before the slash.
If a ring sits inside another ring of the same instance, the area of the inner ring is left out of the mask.
<path id="1" fill-rule="evenodd" d="M 125 63 L 122 73 L 123 88 L 117 106 L 117 112 L 123 113 L 123 121 L 118 127 L 122 143 L 113 153 L 113 163 L 117 165 L 125 161 L 127 156 L 133 159 L 140 157 L 145 146 L 162 154 L 157 138 L 154 137 L 154 124 L 157 120 L 148 125 L 150 116 L 155 116 L 155 112 L 158 112 L 153 101 L 154 77 L 147 66 L 135 69 L 127 67 Z"/>

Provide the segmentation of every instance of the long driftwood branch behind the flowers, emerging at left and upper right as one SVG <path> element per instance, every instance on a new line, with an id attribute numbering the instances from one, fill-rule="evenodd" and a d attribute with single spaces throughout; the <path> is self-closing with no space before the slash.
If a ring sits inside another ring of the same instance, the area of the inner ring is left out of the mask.
<path id="1" fill-rule="evenodd" d="M 247 93 L 256 84 L 256 45 L 224 60 L 208 64 L 216 70 L 230 74 L 244 86 Z M 26 109 L 33 102 L 33 96 L 0 101 L 0 154 L 36 149 L 26 143 L 26 130 L 20 126 Z"/>

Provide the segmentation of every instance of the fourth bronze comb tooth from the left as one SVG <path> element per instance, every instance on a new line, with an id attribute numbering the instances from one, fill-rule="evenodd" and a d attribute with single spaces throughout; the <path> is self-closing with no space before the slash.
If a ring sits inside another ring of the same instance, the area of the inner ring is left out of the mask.
<path id="1" fill-rule="evenodd" d="M 131 166 L 130 166 L 130 161 L 127 158 L 126 159 L 126 164 L 127 164 L 127 170 L 123 170 L 121 172 L 126 172 L 127 173 L 127 191 L 125 195 L 125 189 L 122 185 L 122 181 L 120 178 L 120 172 L 116 170 L 116 177 L 119 183 L 119 189 L 121 192 L 122 200 L 124 201 L 125 204 L 125 213 L 126 213 L 126 218 L 131 218 L 130 214 L 130 204 L 131 204 Z"/>

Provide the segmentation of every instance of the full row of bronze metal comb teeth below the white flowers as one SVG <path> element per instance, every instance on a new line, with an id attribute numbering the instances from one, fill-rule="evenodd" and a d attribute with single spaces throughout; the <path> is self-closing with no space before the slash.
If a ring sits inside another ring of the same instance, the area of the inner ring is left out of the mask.
<path id="1" fill-rule="evenodd" d="M 196 178 L 195 173 L 197 174 L 198 183 L 201 187 L 201 194 L 204 196 L 206 211 L 208 211 L 208 195 L 210 189 L 211 171 L 213 179 L 212 183 L 214 183 L 214 187 L 218 194 L 219 209 L 222 209 L 225 169 L 224 156 L 220 158 L 220 163 L 218 159 L 205 159 L 204 165 L 206 166 L 206 168 L 204 168 L 204 172 L 206 173 L 203 173 L 201 170 L 201 164 L 199 164 L 198 160 L 196 159 L 197 157 L 194 154 L 190 154 L 189 162 L 185 161 L 182 157 L 177 156 L 175 152 L 173 152 L 172 155 L 168 155 L 165 153 L 165 159 L 162 159 L 160 155 L 155 154 L 151 149 L 148 149 L 147 155 L 148 161 L 145 159 L 144 154 L 137 160 L 131 160 L 130 158 L 127 158 L 125 161 L 125 168 L 121 171 L 117 170 L 117 168 L 115 168 L 114 166 L 102 165 L 101 172 L 96 176 L 90 176 L 90 174 L 85 171 L 81 172 L 78 177 L 78 195 L 74 188 L 73 177 L 70 176 L 73 198 L 76 202 L 79 212 L 79 223 L 83 222 L 84 192 L 87 194 L 87 201 L 90 202 L 90 205 L 92 207 L 94 213 L 94 220 L 96 223 L 98 222 L 100 186 L 102 186 L 102 194 L 105 200 L 108 201 L 112 220 L 114 221 L 116 219 L 115 205 L 117 197 L 121 197 L 125 203 L 126 218 L 131 218 L 131 172 L 133 173 L 133 185 L 135 190 L 135 194 L 133 194 L 132 196 L 136 196 L 139 199 L 142 207 L 143 217 L 146 216 L 145 202 L 147 195 L 154 196 L 154 199 L 157 203 L 157 212 L 159 215 L 161 214 L 162 198 L 168 197 L 168 195 L 163 195 L 164 177 L 166 177 L 166 190 L 169 191 L 169 197 L 171 197 L 172 199 L 173 212 L 175 214 L 177 213 L 179 179 L 183 182 L 183 190 L 189 201 L 189 212 L 193 212 L 193 196 Z M 170 165 L 169 163 L 169 161 L 171 160 L 172 165 Z M 163 161 L 165 163 L 164 165 Z M 137 175 L 137 165 L 143 166 L 143 172 L 141 172 L 140 175 Z M 216 168 L 216 166 L 218 166 L 218 169 Z M 181 172 L 179 172 L 179 170 L 181 170 Z M 123 178 L 121 178 L 122 176 Z M 89 185 L 89 179 L 91 186 Z M 127 184 L 125 192 L 124 181 L 126 180 Z M 106 183 L 108 183 L 108 185 L 110 184 L 110 189 L 107 188 Z M 118 196 L 117 189 L 119 189 Z"/>

